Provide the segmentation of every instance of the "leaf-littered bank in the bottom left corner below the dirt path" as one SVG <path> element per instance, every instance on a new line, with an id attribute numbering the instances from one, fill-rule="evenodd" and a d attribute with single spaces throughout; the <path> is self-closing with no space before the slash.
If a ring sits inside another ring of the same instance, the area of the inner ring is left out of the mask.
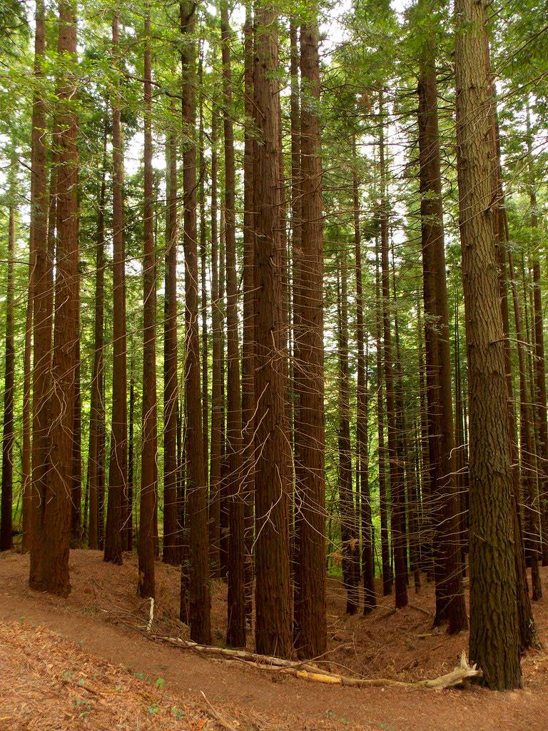
<path id="1" fill-rule="evenodd" d="M 43 626 L 0 624 L 0 729 L 97 731 L 216 727 L 129 670 L 91 657 Z"/>

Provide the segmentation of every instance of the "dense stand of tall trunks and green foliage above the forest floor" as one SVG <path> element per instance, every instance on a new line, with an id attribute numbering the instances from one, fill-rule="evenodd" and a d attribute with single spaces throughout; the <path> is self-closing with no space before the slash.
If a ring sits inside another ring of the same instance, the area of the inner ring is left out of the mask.
<path id="1" fill-rule="evenodd" d="M 520 684 L 547 28 L 531 0 L 4 0 L 0 545 L 32 587 L 137 549 L 144 597 L 181 565 L 194 640 L 223 578 L 228 645 L 305 658 L 326 573 L 348 613 L 434 581 Z"/>

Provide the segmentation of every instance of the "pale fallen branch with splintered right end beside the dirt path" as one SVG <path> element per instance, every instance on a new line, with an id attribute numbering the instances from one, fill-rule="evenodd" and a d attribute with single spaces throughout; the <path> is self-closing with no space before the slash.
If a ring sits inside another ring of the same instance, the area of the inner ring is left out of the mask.
<path id="1" fill-rule="evenodd" d="M 240 661 L 258 667 L 260 670 L 268 670 L 274 673 L 285 673 L 292 675 L 294 678 L 302 678 L 302 680 L 313 681 L 316 683 L 327 683 L 330 685 L 341 686 L 357 686 L 359 688 L 365 686 L 383 687 L 383 686 L 405 686 L 405 687 L 424 687 L 435 690 L 451 688 L 460 685 L 468 678 L 479 678 L 482 676 L 482 670 L 476 668 L 476 664 L 469 665 L 466 660 L 466 653 L 463 650 L 460 654 L 460 662 L 454 667 L 450 673 L 440 675 L 439 678 L 424 681 L 396 681 L 391 678 L 350 678 L 345 675 L 337 675 L 335 673 L 327 673 L 316 665 L 305 662 L 294 662 L 293 660 L 283 660 L 279 657 L 270 655 L 259 655 L 255 652 L 246 650 L 232 650 L 225 647 L 214 647 L 213 645 L 198 645 L 191 640 L 181 640 L 180 637 L 161 637 L 153 635 L 153 639 L 158 642 L 175 645 L 186 650 L 191 650 L 200 655 L 220 656 L 232 662 Z"/>

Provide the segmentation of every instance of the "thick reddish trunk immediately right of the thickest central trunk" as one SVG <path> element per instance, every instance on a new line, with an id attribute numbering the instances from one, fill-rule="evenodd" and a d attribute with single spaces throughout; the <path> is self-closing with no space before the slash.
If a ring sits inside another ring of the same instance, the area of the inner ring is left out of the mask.
<path id="1" fill-rule="evenodd" d="M 295 539 L 294 645 L 302 658 L 324 654 L 325 601 L 325 418 L 324 418 L 324 230 L 321 216 L 319 31 L 317 18 L 300 29 L 300 71 L 308 98 L 300 116 L 301 242 L 294 288 L 299 308 L 294 389 L 296 497 L 299 530 Z M 298 464 L 298 467 L 297 467 Z M 296 518 L 297 519 L 297 518 Z"/>

